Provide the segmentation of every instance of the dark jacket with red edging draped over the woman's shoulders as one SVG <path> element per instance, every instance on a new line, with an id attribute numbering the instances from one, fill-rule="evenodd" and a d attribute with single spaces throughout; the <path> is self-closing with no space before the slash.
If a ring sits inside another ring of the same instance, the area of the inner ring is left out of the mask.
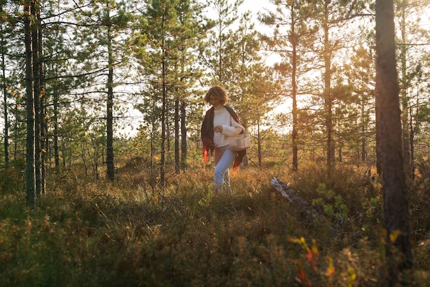
<path id="1" fill-rule="evenodd" d="M 234 111 L 234 109 L 229 105 L 225 105 L 225 108 L 231 117 L 240 124 L 236 111 Z M 203 123 L 201 125 L 201 141 L 203 142 L 203 161 L 206 165 L 209 152 L 212 153 L 214 151 L 214 107 L 211 107 L 206 111 L 205 118 L 203 119 Z M 236 152 L 236 159 L 234 160 L 233 169 L 237 169 L 246 154 L 246 149 Z"/>

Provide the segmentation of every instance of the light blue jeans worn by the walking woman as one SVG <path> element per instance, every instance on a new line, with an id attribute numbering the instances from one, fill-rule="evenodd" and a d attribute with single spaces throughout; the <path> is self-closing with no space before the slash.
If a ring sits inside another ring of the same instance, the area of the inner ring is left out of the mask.
<path id="1" fill-rule="evenodd" d="M 231 151 L 227 145 L 225 147 L 216 147 L 214 150 L 214 192 L 221 191 L 224 184 L 230 187 L 229 167 L 233 164 L 236 158 L 236 152 Z"/>

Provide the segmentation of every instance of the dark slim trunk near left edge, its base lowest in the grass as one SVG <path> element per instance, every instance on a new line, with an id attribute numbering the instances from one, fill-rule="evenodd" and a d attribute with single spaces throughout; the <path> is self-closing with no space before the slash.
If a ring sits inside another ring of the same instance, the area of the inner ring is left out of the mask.
<path id="1" fill-rule="evenodd" d="M 25 188 L 27 191 L 27 206 L 36 211 L 36 167 L 34 150 L 34 87 L 33 87 L 33 54 L 32 54 L 32 28 L 30 5 L 24 3 L 24 43 L 25 43 L 25 104 L 27 114 L 26 139 L 26 169 Z"/>

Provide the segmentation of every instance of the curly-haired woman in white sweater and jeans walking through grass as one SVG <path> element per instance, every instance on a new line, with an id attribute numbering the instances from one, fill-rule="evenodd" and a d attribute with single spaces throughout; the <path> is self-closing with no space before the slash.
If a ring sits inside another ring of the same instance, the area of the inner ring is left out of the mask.
<path id="1" fill-rule="evenodd" d="M 245 132 L 245 128 L 240 125 L 234 109 L 227 105 L 227 100 L 227 92 L 220 86 L 211 87 L 205 95 L 205 102 L 212 107 L 206 111 L 203 119 L 201 140 L 205 165 L 209 152 L 214 153 L 214 193 L 223 189 L 224 184 L 230 186 L 229 167 L 234 163 L 233 168 L 236 169 L 246 154 L 246 150 L 231 151 L 229 148 L 227 137 L 238 136 Z"/>

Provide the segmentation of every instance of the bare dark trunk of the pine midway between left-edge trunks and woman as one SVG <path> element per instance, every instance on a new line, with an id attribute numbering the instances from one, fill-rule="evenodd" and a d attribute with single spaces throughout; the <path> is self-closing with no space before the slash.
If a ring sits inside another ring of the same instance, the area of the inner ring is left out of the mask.
<path id="1" fill-rule="evenodd" d="M 108 93 L 106 103 L 106 166 L 107 178 L 113 182 L 115 180 L 115 164 L 113 162 L 113 56 L 112 56 L 112 35 L 111 26 L 108 26 Z"/>

